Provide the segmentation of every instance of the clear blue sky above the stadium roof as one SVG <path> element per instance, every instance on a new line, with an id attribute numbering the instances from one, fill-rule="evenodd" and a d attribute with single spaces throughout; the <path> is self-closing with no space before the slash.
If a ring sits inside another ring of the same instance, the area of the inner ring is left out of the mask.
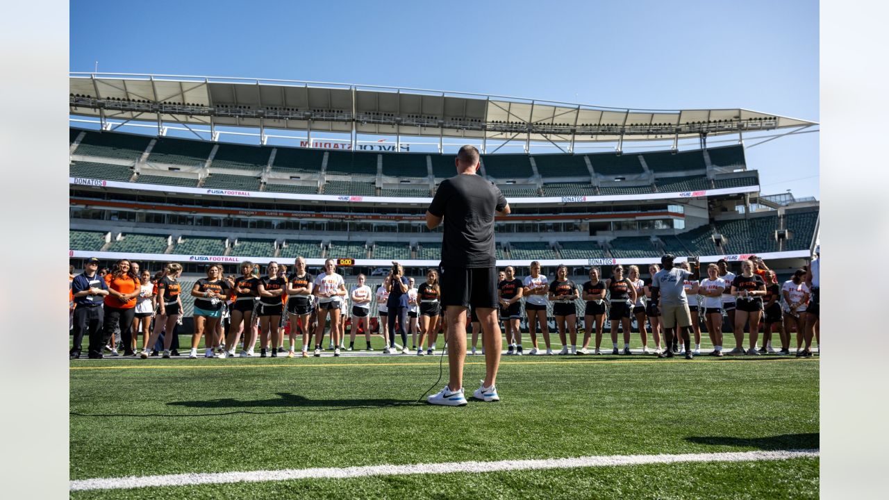
<path id="1" fill-rule="evenodd" d="M 70 69 L 316 80 L 819 121 L 818 3 L 72 0 Z M 747 141 L 751 145 L 755 141 Z M 820 198 L 819 134 L 752 147 Z"/>

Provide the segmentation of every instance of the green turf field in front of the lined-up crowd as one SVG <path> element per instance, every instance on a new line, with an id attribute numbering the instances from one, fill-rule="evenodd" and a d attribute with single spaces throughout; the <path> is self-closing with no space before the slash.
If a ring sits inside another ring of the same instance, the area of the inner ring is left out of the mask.
<path id="1" fill-rule="evenodd" d="M 472 391 L 484 364 L 468 361 Z M 105 359 L 71 367 L 72 412 L 140 415 L 72 415 L 72 480 L 819 448 L 817 358 L 504 358 L 503 400 L 467 407 L 415 403 L 438 376 L 438 358 L 429 357 Z M 797 498 L 818 496 L 818 463 L 624 465 L 72 496 Z"/>

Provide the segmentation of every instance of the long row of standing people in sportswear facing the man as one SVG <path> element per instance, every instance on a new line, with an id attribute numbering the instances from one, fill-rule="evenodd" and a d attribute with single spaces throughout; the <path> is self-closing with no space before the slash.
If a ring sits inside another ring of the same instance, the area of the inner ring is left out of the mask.
<path id="1" fill-rule="evenodd" d="M 320 357 L 325 332 L 329 335 L 328 350 L 333 351 L 334 357 L 339 357 L 341 351 L 356 350 L 356 335 L 362 334 L 366 351 L 373 351 L 373 302 L 377 304 L 376 323 L 385 342 L 383 353 L 434 354 L 437 336 L 446 328 L 436 269 L 429 269 L 426 280 L 415 286 L 413 278 L 404 277 L 401 265 L 393 263 L 383 284 L 373 291 L 364 275 L 358 275 L 356 285 L 347 288 L 344 278 L 336 272 L 333 259 L 324 262 L 324 270 L 317 276 L 308 272 L 302 257 L 293 262 L 289 274 L 286 267 L 277 262 L 269 262 L 261 274 L 259 266 L 242 262 L 239 276 L 226 277 L 220 265 L 211 264 L 206 268 L 205 278 L 197 279 L 190 290 L 182 290 L 179 280 L 182 267 L 177 263 L 167 264 L 154 275 L 150 270 L 140 270 L 137 262 L 127 259 L 116 262 L 110 270 L 99 270 L 98 263 L 98 259 L 89 259 L 84 273 L 75 276 L 72 268 L 69 277 L 69 310 L 74 331 L 71 359 L 80 358 L 84 336 L 89 338 L 88 357 L 92 359 L 102 358 L 105 352 L 119 356 L 118 348 L 123 349 L 124 356 L 142 359 L 156 355 L 178 356 L 177 330 L 182 323 L 183 293 L 194 297 L 194 333 L 188 352 L 188 358 L 192 359 L 198 357 L 202 339 L 206 358 L 249 358 L 256 355 L 257 342 L 260 358 L 274 358 L 279 354 L 292 358 L 296 356 L 299 335 L 301 356 L 308 358 L 314 345 L 313 354 Z M 820 261 L 815 260 L 805 269 L 796 270 L 783 284 L 778 283 L 774 271 L 755 256 L 741 262 L 741 273 L 737 275 L 728 270 L 729 262 L 725 260 L 710 263 L 706 277 L 700 279 L 691 274 L 688 262 L 679 263 L 677 269 L 686 271 L 682 274 L 685 276 L 683 288 L 691 317 L 688 327 L 680 325 L 679 329 L 687 335 L 678 335 L 676 325 L 666 327 L 661 317 L 664 305 L 661 290 L 643 280 L 636 265 L 626 268 L 615 265 L 608 278 L 602 277 L 599 267 L 591 267 L 589 280 L 581 286 L 568 277 L 564 265 L 558 266 L 556 277 L 551 281 L 541 274 L 540 262 L 531 262 L 530 273 L 525 278 L 518 278 L 515 268 L 508 266 L 501 271 L 498 283 L 500 319 L 508 344 L 505 355 L 525 354 L 521 319 L 527 320 L 532 344 L 527 354 L 556 354 L 550 340 L 549 304 L 562 345 L 557 352 L 560 355 L 604 354 L 606 323 L 610 323 L 610 353 L 632 355 L 630 337 L 635 322 L 641 341 L 641 350 L 637 352 L 642 354 L 681 351 L 685 351 L 687 357 L 701 354 L 701 335 L 706 331 L 713 346 L 711 356 L 789 355 L 793 348 L 791 334 L 796 331 L 797 356 L 812 356 L 813 340 L 817 342 L 819 338 L 818 263 Z M 651 276 L 663 273 L 658 264 L 649 265 L 647 270 Z M 578 318 L 578 302 L 583 303 L 582 324 Z M 475 311 L 469 312 L 470 355 L 474 355 L 481 328 Z M 351 332 L 347 348 L 345 333 L 349 318 Z M 724 324 L 734 340 L 733 349 L 725 353 Z M 289 351 L 284 351 L 285 326 L 289 326 Z M 581 327 L 583 338 L 579 348 Z M 746 349 L 745 332 L 748 334 Z M 411 350 L 407 347 L 409 333 Z M 773 347 L 776 333 L 778 349 Z M 138 342 L 140 335 L 141 343 Z M 539 347 L 539 336 L 545 349 Z M 311 343 L 313 337 L 314 344 Z M 649 351 L 650 339 L 653 351 Z M 592 348 L 590 343 L 594 343 Z M 239 354 L 238 346 L 241 347 Z"/>

